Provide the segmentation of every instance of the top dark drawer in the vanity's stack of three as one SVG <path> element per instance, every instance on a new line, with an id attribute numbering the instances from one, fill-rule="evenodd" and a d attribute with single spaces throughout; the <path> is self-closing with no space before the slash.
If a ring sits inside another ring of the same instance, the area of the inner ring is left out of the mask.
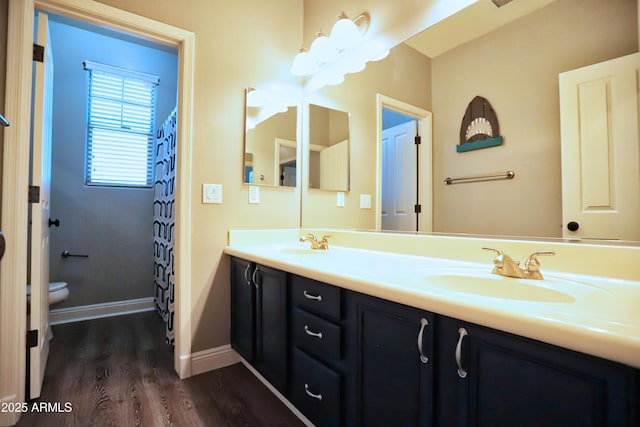
<path id="1" fill-rule="evenodd" d="M 291 299 L 294 306 L 340 320 L 340 288 L 337 286 L 294 275 Z"/>

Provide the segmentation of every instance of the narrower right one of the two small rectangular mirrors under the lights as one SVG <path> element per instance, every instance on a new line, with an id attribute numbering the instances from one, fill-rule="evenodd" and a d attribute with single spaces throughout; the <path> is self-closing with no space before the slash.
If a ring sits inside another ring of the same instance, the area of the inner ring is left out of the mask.
<path id="1" fill-rule="evenodd" d="M 309 188 L 349 190 L 349 113 L 309 104 Z"/>

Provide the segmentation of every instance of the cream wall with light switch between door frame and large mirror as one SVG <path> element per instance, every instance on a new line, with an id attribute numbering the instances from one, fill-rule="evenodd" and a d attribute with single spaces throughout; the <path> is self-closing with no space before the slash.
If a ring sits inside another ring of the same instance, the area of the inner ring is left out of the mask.
<path id="1" fill-rule="evenodd" d="M 243 184 L 244 88 L 289 73 L 302 39 L 298 0 L 103 0 L 102 3 L 195 33 L 192 160 L 192 352 L 229 343 L 229 229 L 297 227 L 299 199 L 290 189 L 262 188 L 248 204 Z M 221 205 L 201 203 L 203 183 L 223 185 Z M 183 289 L 184 291 L 184 289 Z M 189 319 L 183 319 L 188 322 Z"/>

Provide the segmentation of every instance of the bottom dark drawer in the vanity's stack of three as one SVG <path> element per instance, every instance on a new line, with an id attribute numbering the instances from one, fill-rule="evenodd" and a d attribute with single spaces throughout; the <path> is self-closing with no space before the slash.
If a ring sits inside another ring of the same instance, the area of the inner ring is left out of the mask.
<path id="1" fill-rule="evenodd" d="M 340 374 L 295 349 L 293 351 L 293 404 L 316 426 L 341 425 Z"/>

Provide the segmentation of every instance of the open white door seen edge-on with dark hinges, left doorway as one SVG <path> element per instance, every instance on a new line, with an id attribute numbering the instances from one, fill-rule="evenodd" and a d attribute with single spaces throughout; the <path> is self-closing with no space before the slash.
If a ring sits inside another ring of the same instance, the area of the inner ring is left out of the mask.
<path id="1" fill-rule="evenodd" d="M 31 205 L 31 304 L 29 329 L 38 331 L 32 347 L 30 398 L 40 396 L 49 355 L 49 194 L 51 189 L 51 127 L 53 108 L 53 58 L 48 19 L 38 13 L 36 44 L 44 46 L 44 61 L 34 62 L 33 169 L 31 185 L 40 187 L 38 203 Z"/>

